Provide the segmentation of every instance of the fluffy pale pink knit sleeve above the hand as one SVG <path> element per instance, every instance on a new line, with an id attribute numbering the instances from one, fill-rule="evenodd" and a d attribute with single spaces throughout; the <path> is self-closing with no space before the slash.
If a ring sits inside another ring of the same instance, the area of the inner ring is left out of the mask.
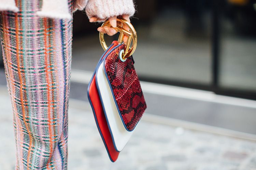
<path id="1" fill-rule="evenodd" d="M 97 17 L 98 21 L 124 14 L 132 16 L 135 12 L 132 0 L 76 0 L 74 10 L 83 10 L 85 6 L 88 18 Z"/>

